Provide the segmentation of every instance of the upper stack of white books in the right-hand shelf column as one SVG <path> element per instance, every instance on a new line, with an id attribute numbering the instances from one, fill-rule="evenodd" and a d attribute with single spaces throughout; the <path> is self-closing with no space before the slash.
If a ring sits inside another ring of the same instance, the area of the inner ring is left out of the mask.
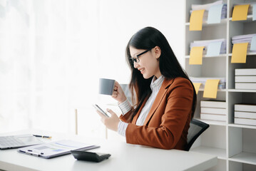
<path id="1" fill-rule="evenodd" d="M 235 89 L 256 90 L 256 68 L 235 69 Z"/>

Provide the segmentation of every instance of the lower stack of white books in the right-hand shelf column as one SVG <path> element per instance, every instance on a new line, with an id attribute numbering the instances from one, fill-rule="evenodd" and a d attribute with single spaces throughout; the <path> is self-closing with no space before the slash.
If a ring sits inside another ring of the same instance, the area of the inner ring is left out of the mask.
<path id="1" fill-rule="evenodd" d="M 234 123 L 256 125 L 256 105 L 235 104 Z"/>

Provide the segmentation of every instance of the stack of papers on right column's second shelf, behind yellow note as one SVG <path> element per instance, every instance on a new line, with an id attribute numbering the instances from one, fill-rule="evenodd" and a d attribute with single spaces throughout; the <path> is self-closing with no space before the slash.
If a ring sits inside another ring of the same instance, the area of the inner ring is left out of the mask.
<path id="1" fill-rule="evenodd" d="M 251 48 L 252 38 L 256 36 L 255 34 L 246 34 L 240 36 L 233 36 L 232 37 L 232 44 L 235 43 L 248 43 L 247 52 L 256 52 L 255 48 Z"/>

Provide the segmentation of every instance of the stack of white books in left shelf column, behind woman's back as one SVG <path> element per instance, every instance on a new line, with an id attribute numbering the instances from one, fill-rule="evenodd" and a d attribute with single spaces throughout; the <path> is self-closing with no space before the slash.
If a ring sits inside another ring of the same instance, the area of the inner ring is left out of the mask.
<path id="1" fill-rule="evenodd" d="M 227 108 L 225 101 L 201 100 L 200 104 L 200 118 L 202 120 L 227 120 Z"/>

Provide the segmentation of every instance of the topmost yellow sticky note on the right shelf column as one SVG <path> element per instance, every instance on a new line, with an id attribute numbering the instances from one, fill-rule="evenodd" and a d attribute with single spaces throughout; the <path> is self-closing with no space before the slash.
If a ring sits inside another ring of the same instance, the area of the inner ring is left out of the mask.
<path id="1" fill-rule="evenodd" d="M 247 20 L 249 6 L 250 4 L 234 6 L 232 21 Z"/>

